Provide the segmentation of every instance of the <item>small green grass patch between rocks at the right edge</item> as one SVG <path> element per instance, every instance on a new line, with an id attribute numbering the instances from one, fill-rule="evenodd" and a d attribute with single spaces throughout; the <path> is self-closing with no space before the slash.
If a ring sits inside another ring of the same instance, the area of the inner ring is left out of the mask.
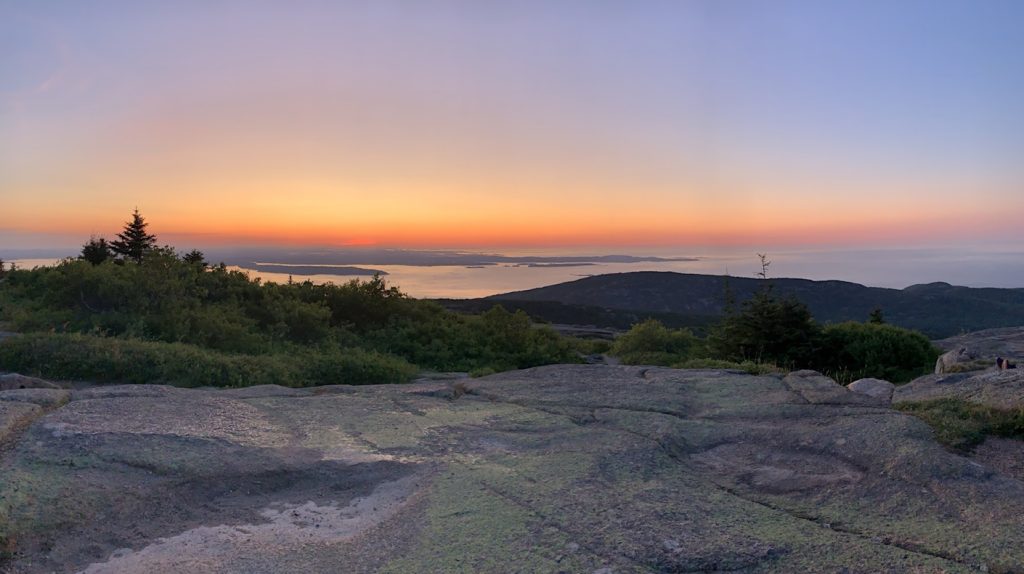
<path id="1" fill-rule="evenodd" d="M 970 451 L 989 436 L 1024 439 L 1024 408 L 999 409 L 952 398 L 894 406 L 927 423 L 936 440 L 962 452 Z"/>

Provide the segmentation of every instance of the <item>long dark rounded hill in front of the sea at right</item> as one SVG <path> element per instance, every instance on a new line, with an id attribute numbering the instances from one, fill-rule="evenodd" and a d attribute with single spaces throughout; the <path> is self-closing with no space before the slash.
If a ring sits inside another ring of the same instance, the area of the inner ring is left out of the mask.
<path id="1" fill-rule="evenodd" d="M 978 289 L 936 282 L 895 290 L 848 281 L 769 280 L 775 293 L 806 303 L 820 322 L 862 321 L 880 307 L 888 322 L 922 330 L 935 339 L 983 328 L 1024 325 L 1024 289 Z M 639 271 L 595 275 L 496 295 L 482 301 L 513 305 L 556 302 L 580 306 L 586 311 L 584 314 L 597 318 L 600 314 L 594 313 L 594 309 L 608 309 L 654 316 L 668 314 L 707 324 L 723 312 L 726 282 L 737 302 L 750 299 L 764 286 L 762 279 L 755 278 Z M 562 308 L 559 322 L 566 322 L 567 314 L 568 310 Z M 621 313 L 610 315 L 622 319 Z"/>

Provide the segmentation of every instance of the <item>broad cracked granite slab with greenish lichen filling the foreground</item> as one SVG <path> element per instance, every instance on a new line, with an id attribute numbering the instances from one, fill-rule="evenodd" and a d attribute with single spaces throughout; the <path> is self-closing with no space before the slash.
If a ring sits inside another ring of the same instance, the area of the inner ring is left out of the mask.
<path id="1" fill-rule="evenodd" d="M 1022 505 L 813 371 L 103 387 L 4 451 L 0 571 L 1010 572 Z"/>

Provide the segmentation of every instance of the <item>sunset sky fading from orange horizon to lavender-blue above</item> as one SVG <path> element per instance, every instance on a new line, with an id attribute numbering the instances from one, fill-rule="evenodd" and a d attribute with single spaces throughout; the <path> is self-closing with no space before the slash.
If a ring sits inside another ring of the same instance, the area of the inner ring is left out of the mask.
<path id="1" fill-rule="evenodd" d="M 0 242 L 1018 242 L 1024 2 L 0 0 Z"/>

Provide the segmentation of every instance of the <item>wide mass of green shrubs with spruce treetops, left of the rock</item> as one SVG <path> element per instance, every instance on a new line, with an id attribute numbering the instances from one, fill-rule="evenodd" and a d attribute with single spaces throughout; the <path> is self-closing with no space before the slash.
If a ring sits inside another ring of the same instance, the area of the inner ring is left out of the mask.
<path id="1" fill-rule="evenodd" d="M 155 247 L 135 213 L 79 259 L 8 270 L 0 369 L 53 379 L 238 386 L 394 383 L 418 370 L 573 362 L 571 342 L 523 312 L 463 315 L 381 277 L 264 283 Z"/>

